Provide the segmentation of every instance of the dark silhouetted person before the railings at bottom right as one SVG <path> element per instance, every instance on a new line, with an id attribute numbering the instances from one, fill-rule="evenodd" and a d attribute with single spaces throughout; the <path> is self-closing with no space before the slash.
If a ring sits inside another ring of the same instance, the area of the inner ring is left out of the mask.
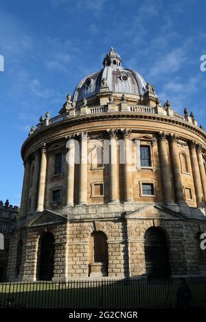
<path id="1" fill-rule="evenodd" d="M 181 286 L 176 293 L 176 307 L 177 308 L 191 308 L 192 291 L 187 286 L 184 278 L 181 278 Z"/>

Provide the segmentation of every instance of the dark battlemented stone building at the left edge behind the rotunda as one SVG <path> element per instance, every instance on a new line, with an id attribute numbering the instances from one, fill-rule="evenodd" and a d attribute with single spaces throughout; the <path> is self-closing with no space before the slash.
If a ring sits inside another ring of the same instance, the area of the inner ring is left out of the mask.
<path id="1" fill-rule="evenodd" d="M 9 201 L 0 201 L 0 282 L 7 279 L 8 254 L 10 235 L 16 225 L 19 214 L 17 206 L 10 205 Z"/>

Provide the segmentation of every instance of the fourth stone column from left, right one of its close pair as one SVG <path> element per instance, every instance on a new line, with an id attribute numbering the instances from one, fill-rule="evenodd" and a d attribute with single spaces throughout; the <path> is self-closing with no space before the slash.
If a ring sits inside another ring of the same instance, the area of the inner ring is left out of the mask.
<path id="1" fill-rule="evenodd" d="M 80 134 L 80 183 L 79 183 L 79 204 L 87 204 L 87 132 Z"/>

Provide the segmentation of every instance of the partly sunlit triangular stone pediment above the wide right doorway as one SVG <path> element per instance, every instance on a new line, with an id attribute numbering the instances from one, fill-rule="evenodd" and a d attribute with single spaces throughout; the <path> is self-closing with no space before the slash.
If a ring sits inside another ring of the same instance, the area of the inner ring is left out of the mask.
<path id="1" fill-rule="evenodd" d="M 183 214 L 164 206 L 150 205 L 134 212 L 126 212 L 126 219 L 186 219 Z"/>

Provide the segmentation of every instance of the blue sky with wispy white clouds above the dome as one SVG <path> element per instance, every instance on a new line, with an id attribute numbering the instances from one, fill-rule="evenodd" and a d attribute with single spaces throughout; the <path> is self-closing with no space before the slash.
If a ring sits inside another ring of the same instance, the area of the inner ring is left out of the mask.
<path id="1" fill-rule="evenodd" d="M 202 0 L 1 0 L 0 199 L 20 204 L 20 150 L 31 125 L 47 110 L 58 114 L 111 45 L 162 103 L 186 106 L 206 128 L 205 11 Z"/>

